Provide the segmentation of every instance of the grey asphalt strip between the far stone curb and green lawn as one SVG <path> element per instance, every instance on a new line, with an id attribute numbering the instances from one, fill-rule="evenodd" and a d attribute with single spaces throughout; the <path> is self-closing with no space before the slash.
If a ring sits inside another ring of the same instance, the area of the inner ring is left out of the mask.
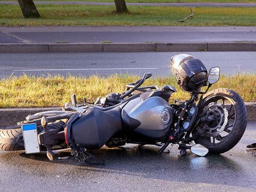
<path id="1" fill-rule="evenodd" d="M 0 43 L 255 42 L 256 27 L 0 27 Z"/>

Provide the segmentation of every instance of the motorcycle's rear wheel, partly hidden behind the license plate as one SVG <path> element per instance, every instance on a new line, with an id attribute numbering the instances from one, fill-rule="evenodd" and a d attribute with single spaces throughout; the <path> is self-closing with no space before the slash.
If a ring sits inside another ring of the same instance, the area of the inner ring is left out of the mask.
<path id="1" fill-rule="evenodd" d="M 54 122 L 48 124 L 49 130 L 64 130 L 65 122 L 60 120 L 59 122 Z M 39 130 L 42 131 L 43 127 L 38 126 Z M 22 128 L 20 126 L 10 126 L 0 129 L 0 149 L 3 151 L 20 151 L 24 150 L 24 144 L 17 142 L 19 136 L 22 135 Z"/>

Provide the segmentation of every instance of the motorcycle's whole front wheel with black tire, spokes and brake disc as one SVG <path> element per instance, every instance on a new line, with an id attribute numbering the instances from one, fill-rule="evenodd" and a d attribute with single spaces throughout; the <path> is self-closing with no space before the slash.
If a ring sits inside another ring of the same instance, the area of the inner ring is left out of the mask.
<path id="1" fill-rule="evenodd" d="M 212 153 L 224 153 L 240 141 L 247 125 L 247 110 L 240 95 L 226 88 L 214 89 L 199 104 L 200 117 L 214 116 L 212 122 L 196 128 L 196 143 Z M 194 132 L 194 133 L 195 133 Z"/>

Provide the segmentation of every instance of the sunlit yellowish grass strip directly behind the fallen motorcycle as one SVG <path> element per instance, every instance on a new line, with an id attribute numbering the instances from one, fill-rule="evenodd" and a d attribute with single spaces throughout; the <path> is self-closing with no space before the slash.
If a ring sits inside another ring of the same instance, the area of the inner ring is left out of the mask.
<path id="1" fill-rule="evenodd" d="M 70 95 L 77 94 L 77 98 L 85 97 L 88 101 L 95 101 L 97 97 L 108 93 L 121 93 L 125 85 L 135 80 L 138 76 L 129 74 L 110 77 L 91 76 L 84 77 L 22 77 L 11 76 L 0 80 L 0 107 L 47 107 L 63 106 L 70 102 Z M 250 83 L 249 83 L 250 82 Z M 189 98 L 188 93 L 179 89 L 174 77 L 157 77 L 148 79 L 143 85 L 173 85 L 177 93 L 173 99 Z M 222 76 L 220 81 L 210 89 L 227 87 L 237 91 L 245 101 L 256 101 L 256 74 L 237 74 L 235 76 Z"/>

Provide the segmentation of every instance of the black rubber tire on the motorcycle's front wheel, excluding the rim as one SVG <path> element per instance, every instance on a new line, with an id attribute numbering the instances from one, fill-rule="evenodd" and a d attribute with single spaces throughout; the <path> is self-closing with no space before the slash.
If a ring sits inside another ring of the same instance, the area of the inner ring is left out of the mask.
<path id="1" fill-rule="evenodd" d="M 228 119 L 233 122 L 233 127 L 228 129 L 226 127 L 231 126 L 229 126 L 229 124 L 225 126 L 225 130 L 227 131 L 228 135 L 222 136 L 222 138 L 224 139 L 218 141 L 218 143 L 212 142 L 211 138 L 207 136 L 199 136 L 195 140 L 196 143 L 199 143 L 204 147 L 208 148 L 209 152 L 211 153 L 219 154 L 232 149 L 238 143 L 238 141 L 240 141 L 247 125 L 247 110 L 245 103 L 243 102 L 240 95 L 238 95 L 235 91 L 226 88 L 214 89 L 212 91 L 209 91 L 209 93 L 205 94 L 203 97 L 203 101 L 199 106 L 199 114 L 203 112 L 204 107 L 208 106 L 210 102 L 216 102 L 217 99 L 223 100 L 223 98 L 227 99 L 231 103 Z M 228 105 L 226 106 L 228 107 Z M 232 114 L 231 108 L 234 111 L 234 114 Z M 220 137 L 218 136 L 216 136 L 214 140 L 220 139 Z"/>

